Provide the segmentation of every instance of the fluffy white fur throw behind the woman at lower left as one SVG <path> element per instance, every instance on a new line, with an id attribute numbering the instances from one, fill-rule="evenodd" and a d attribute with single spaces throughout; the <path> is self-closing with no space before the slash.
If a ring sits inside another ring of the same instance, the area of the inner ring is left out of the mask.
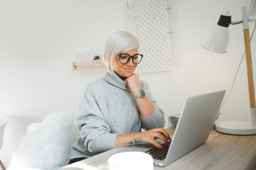
<path id="1" fill-rule="evenodd" d="M 48 115 L 41 123 L 28 126 L 8 170 L 58 169 L 68 164 L 70 149 L 79 137 L 74 115 L 59 111 Z"/>

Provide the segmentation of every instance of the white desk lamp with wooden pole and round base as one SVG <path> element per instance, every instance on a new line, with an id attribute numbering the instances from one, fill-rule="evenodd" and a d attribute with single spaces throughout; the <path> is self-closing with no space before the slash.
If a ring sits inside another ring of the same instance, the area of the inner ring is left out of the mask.
<path id="1" fill-rule="evenodd" d="M 250 13 L 254 13 L 256 11 L 256 0 L 252 0 L 249 3 L 249 11 Z M 255 135 L 256 134 L 256 102 L 255 102 L 255 88 L 254 88 L 254 80 L 252 74 L 252 55 L 251 55 L 251 47 L 250 47 L 250 31 L 249 31 L 249 21 L 253 21 L 248 19 L 247 17 L 247 7 L 242 7 L 242 21 L 231 22 L 230 14 L 223 13 L 220 16 L 218 21 L 218 26 L 215 28 L 215 32 L 210 36 L 206 42 L 202 43 L 202 46 L 207 50 L 219 53 L 225 53 L 228 47 L 228 26 L 230 24 L 235 25 L 238 23 L 242 23 L 243 25 L 243 34 L 245 41 L 245 57 L 246 57 L 246 65 L 247 65 L 247 81 L 248 81 L 248 91 L 250 98 L 250 112 L 252 121 L 225 121 L 220 122 L 216 121 L 215 128 L 218 132 L 223 132 L 226 134 L 232 135 Z M 256 24 L 256 23 L 255 23 Z"/>

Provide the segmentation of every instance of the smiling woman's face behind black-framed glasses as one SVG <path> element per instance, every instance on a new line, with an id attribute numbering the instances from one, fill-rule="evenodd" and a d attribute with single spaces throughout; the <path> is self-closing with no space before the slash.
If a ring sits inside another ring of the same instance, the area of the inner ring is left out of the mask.
<path id="1" fill-rule="evenodd" d="M 130 56 L 133 56 L 135 54 L 138 54 L 138 50 L 129 50 L 127 52 L 124 52 L 129 54 Z M 114 57 L 113 63 L 112 63 L 113 70 L 116 74 L 118 74 L 120 77 L 130 77 L 134 73 L 137 64 L 134 64 L 132 62 L 132 58 L 129 60 L 127 64 L 122 64 L 119 62 L 119 56 Z"/>

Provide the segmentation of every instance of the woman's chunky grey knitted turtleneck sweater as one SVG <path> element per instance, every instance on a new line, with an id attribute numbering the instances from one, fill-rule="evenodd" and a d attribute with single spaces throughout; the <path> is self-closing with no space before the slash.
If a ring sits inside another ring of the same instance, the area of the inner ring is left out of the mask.
<path id="1" fill-rule="evenodd" d="M 111 69 L 86 87 L 75 119 L 80 139 L 73 146 L 70 159 L 113 149 L 117 135 L 164 127 L 164 112 L 154 101 L 148 84 L 140 80 L 139 85 L 155 108 L 149 118 L 141 117 L 132 92 Z"/>

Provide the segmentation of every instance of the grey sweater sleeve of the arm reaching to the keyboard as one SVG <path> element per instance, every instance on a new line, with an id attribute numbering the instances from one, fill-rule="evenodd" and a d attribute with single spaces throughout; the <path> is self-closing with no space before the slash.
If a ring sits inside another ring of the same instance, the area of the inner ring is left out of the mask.
<path id="1" fill-rule="evenodd" d="M 97 100 L 90 90 L 85 89 L 82 103 L 75 124 L 80 130 L 80 137 L 91 153 L 113 149 L 117 134 L 110 133 L 105 116 L 100 111 Z"/>

